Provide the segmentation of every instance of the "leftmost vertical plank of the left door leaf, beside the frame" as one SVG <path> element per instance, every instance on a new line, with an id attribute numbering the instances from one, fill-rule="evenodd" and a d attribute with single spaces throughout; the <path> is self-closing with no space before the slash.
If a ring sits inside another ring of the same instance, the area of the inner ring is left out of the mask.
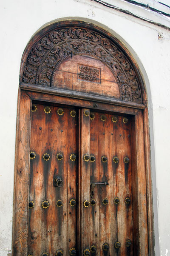
<path id="1" fill-rule="evenodd" d="M 49 116 L 44 112 L 44 106 L 36 104 L 37 110 L 31 113 L 31 143 L 30 151 L 36 154 L 30 159 L 29 200 L 34 202 L 34 208 L 28 210 L 28 253 L 41 254 L 46 251 L 46 213 L 42 208 L 47 198 L 47 172 L 51 162 L 45 161 L 43 155 L 48 153 L 48 124 Z M 51 157 L 51 156 L 50 156 Z M 51 207 L 51 202 L 50 202 Z"/>

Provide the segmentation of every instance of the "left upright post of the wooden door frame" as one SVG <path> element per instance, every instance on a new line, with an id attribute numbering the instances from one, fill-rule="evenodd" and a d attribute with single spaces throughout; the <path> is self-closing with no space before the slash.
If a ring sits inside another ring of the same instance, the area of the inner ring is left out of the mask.
<path id="1" fill-rule="evenodd" d="M 19 91 L 14 177 L 13 256 L 27 255 L 27 212 L 31 99 Z"/>

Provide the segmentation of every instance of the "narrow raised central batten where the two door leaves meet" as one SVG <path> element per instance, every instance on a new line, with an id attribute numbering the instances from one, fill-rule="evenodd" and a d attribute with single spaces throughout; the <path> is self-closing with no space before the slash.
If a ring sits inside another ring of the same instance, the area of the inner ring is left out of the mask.
<path id="1" fill-rule="evenodd" d="M 85 116 L 84 112 L 88 111 L 89 115 Z M 84 160 L 85 154 L 90 156 L 90 111 L 81 109 L 79 111 L 80 119 L 80 148 L 79 148 L 79 221 L 80 221 L 80 244 L 79 255 L 83 255 L 85 249 L 90 248 L 90 206 L 85 207 L 85 200 L 90 201 L 90 159 Z"/>

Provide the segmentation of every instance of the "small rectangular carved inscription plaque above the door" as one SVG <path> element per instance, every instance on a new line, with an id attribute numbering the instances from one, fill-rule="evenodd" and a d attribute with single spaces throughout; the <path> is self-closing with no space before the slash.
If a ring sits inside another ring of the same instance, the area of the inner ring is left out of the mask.
<path id="1" fill-rule="evenodd" d="M 91 82 L 101 82 L 100 68 L 78 64 L 78 79 Z"/>

